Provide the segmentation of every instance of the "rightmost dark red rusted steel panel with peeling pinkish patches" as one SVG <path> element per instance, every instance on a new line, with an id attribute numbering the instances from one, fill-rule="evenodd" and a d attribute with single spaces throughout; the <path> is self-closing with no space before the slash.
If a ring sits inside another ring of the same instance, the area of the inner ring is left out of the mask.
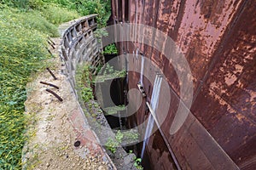
<path id="1" fill-rule="evenodd" d="M 192 107 L 242 169 L 256 164 L 255 7 L 255 1 L 248 1 L 236 16 L 235 26 L 229 37 L 222 39 L 217 61 Z"/>

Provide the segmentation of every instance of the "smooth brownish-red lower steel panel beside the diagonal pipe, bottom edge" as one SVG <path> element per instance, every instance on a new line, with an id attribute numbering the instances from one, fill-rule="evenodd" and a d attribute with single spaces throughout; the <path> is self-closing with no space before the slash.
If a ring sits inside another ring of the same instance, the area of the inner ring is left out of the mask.
<path id="1" fill-rule="evenodd" d="M 162 96 L 160 99 L 164 99 Z M 179 105 L 179 99 L 173 92 L 171 92 L 171 99 L 172 108 L 170 108 L 161 129 L 170 141 L 172 150 L 177 156 L 177 161 L 179 161 L 181 167 L 184 169 L 221 169 L 221 167 L 224 169 L 236 169 L 236 164 L 230 160 L 230 157 L 212 139 L 211 134 L 196 120 L 192 113 L 189 113 L 183 127 L 176 134 L 170 135 L 169 129 Z M 183 107 L 185 106 L 183 105 Z M 198 164 L 195 162 L 198 162 Z"/>

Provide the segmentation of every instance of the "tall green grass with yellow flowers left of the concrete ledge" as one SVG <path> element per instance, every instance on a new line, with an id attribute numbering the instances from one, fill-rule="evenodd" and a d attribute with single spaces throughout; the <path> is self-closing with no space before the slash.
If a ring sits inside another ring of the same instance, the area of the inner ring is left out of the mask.
<path id="1" fill-rule="evenodd" d="M 21 167 L 26 83 L 32 72 L 44 68 L 43 60 L 49 57 L 47 35 L 39 29 L 28 30 L 26 20 L 25 14 L 15 9 L 0 11 L 0 169 Z"/>

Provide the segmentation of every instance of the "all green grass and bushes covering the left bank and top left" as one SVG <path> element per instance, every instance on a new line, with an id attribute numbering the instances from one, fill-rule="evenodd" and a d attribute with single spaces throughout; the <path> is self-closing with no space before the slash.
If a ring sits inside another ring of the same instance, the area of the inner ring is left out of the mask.
<path id="1" fill-rule="evenodd" d="M 21 169 L 26 83 L 47 65 L 47 37 L 60 36 L 62 22 L 92 13 L 99 13 L 98 22 L 105 26 L 109 1 L 0 0 L 0 169 Z M 90 99 L 92 91 L 84 91 Z"/>

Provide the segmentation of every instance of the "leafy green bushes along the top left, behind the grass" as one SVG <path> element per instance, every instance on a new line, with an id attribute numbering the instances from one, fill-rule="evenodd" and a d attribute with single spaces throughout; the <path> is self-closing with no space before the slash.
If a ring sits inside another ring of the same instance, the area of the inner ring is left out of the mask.
<path id="1" fill-rule="evenodd" d="M 98 14 L 98 26 L 104 27 L 111 14 L 110 0 L 0 0 L 0 4 L 21 11 L 37 10 L 53 24 L 73 20 L 78 14 Z"/>

